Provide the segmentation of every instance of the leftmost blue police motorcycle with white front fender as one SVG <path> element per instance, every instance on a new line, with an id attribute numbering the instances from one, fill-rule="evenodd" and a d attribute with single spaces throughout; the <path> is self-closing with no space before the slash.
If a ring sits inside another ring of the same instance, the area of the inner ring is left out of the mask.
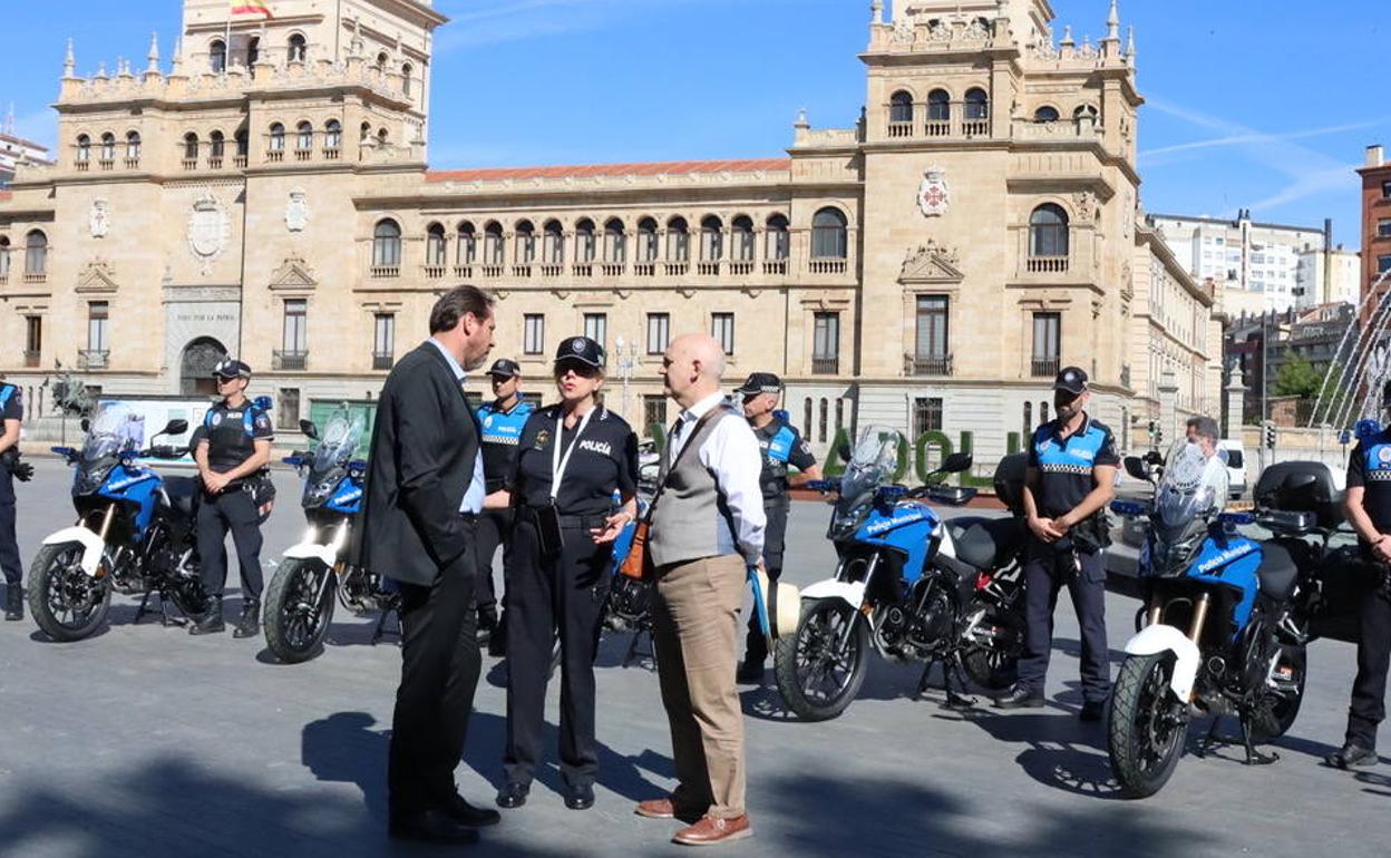
<path id="1" fill-rule="evenodd" d="M 120 402 L 102 405 L 83 430 L 81 451 L 53 448 L 75 466 L 78 520 L 46 537 L 29 569 L 29 608 L 39 629 L 60 642 L 90 636 L 107 616 L 113 590 L 143 594 L 135 622 L 156 594 L 166 623 L 170 604 L 198 619 L 206 610 L 193 538 L 198 481 L 161 477 L 139 463 L 179 459 L 188 448 L 145 449 L 143 419 Z M 150 441 L 186 431 L 186 420 L 171 420 Z"/>

